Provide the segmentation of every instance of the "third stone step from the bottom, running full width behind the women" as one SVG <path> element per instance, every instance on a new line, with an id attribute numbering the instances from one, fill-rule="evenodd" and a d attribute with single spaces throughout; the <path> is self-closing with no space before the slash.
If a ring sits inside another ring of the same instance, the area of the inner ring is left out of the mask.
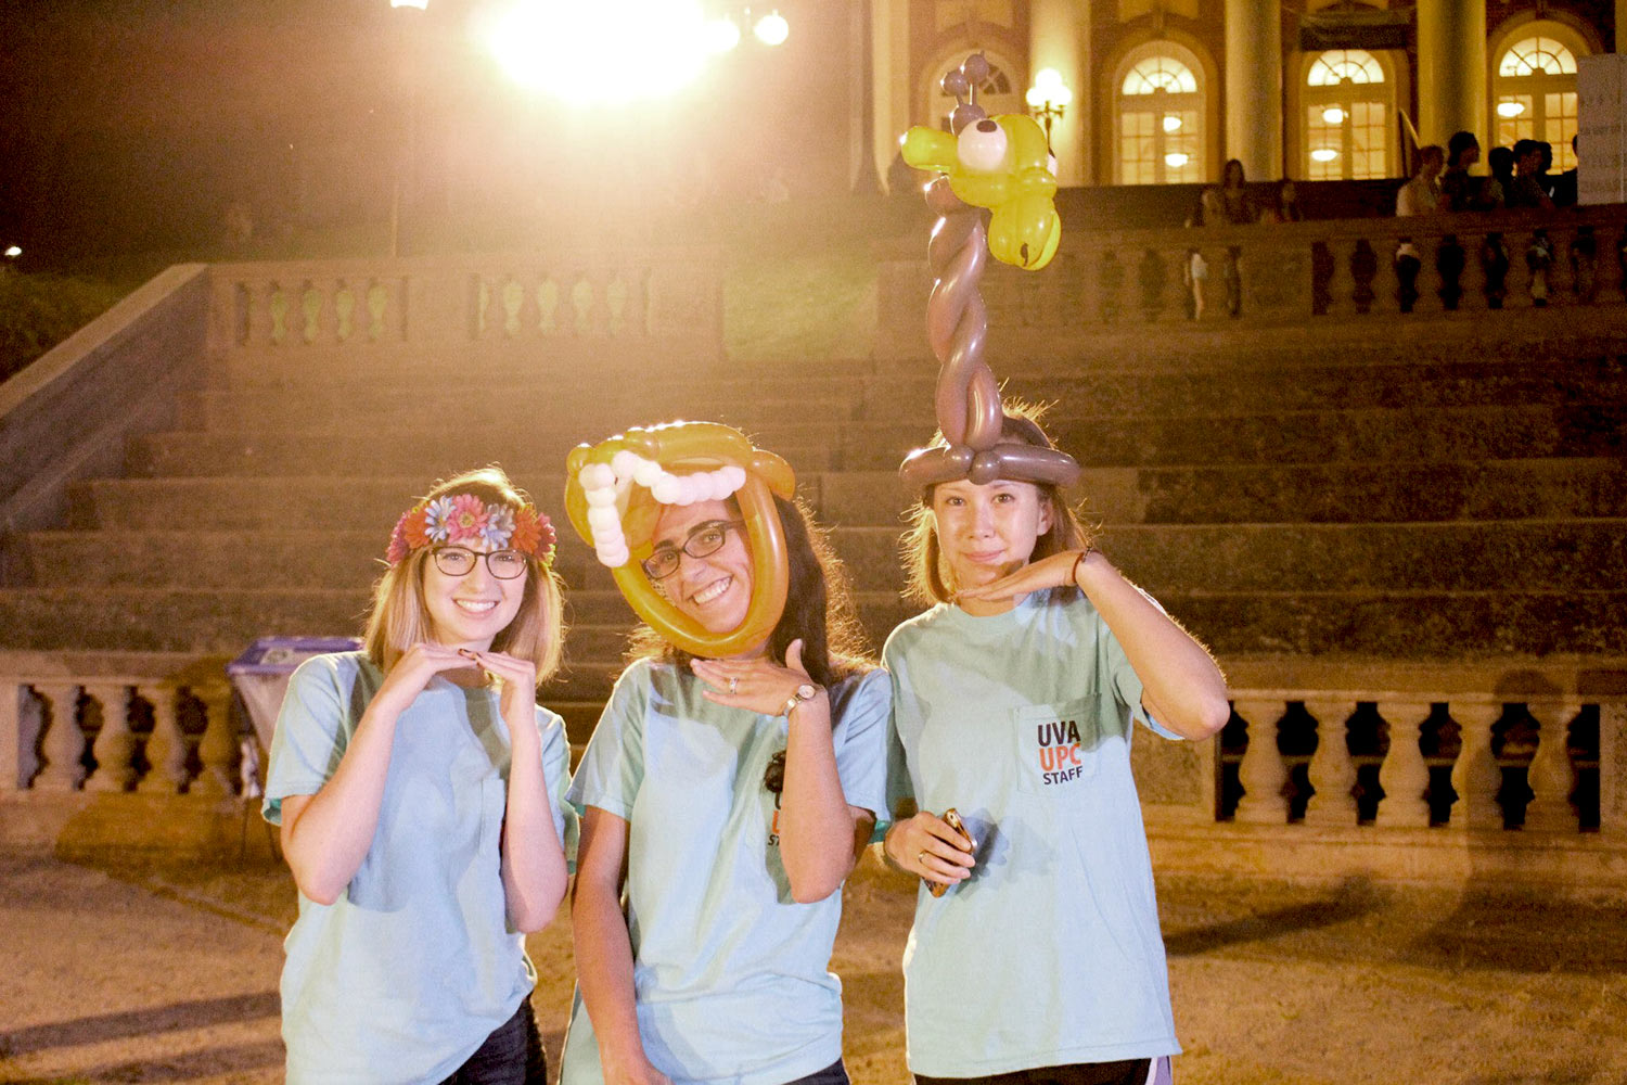
<path id="1" fill-rule="evenodd" d="M 553 468 L 556 470 L 556 468 Z M 330 527 L 335 511 L 386 537 L 417 477 L 106 478 L 72 488 L 70 525 L 106 530 Z M 560 538 L 563 477 L 514 472 Z M 896 527 L 914 495 L 896 470 L 799 472 L 799 493 L 827 525 Z M 1075 495 L 1100 524 L 1406 522 L 1607 519 L 1627 516 L 1627 464 L 1617 457 L 1485 464 L 1085 468 Z"/>

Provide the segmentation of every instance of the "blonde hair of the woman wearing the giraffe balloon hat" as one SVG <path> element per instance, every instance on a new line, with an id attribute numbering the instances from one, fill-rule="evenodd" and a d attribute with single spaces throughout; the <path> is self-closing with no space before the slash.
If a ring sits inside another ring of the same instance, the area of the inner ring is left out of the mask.
<path id="1" fill-rule="evenodd" d="M 1001 423 L 1001 444 L 1032 444 L 1041 449 L 1054 449 L 1040 420 L 1045 407 L 1023 400 L 1007 400 L 1001 405 L 1005 418 Z M 944 434 L 934 434 L 934 444 L 944 444 Z M 1051 511 L 1051 527 L 1041 534 L 1033 545 L 1030 561 L 1048 558 L 1064 550 L 1084 550 L 1095 538 L 1095 530 L 1085 527 L 1079 512 L 1067 503 L 1062 491 L 1048 481 L 1028 483 L 1040 491 L 1040 503 Z M 931 607 L 947 604 L 955 597 L 953 574 L 944 560 L 937 538 L 937 516 L 932 512 L 932 493 L 937 486 L 927 486 L 914 508 L 909 509 L 909 530 L 905 532 L 900 547 L 905 563 L 905 599 Z M 1072 599 L 1077 589 L 1058 589 L 1053 595 L 1058 600 Z"/>

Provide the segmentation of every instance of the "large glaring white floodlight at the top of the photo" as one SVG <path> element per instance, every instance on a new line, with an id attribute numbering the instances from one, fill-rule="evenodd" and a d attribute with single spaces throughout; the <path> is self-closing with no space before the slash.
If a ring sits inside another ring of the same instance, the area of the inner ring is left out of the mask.
<path id="1" fill-rule="evenodd" d="M 516 83 L 579 104 L 664 98 L 700 75 L 698 0 L 516 0 L 486 31 Z"/>

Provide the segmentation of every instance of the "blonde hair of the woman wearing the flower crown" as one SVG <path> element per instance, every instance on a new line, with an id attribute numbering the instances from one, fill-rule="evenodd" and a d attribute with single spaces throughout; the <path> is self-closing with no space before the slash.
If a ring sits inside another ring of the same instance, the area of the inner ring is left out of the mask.
<path id="1" fill-rule="evenodd" d="M 519 490 L 501 467 L 482 467 L 438 481 L 425 499 L 472 493 L 486 504 L 519 509 L 530 496 Z M 430 547 L 420 547 L 384 571 L 373 586 L 373 605 L 363 644 L 368 657 L 389 672 L 413 644 L 434 638 L 430 605 L 423 595 L 425 563 Z M 565 649 L 565 594 L 560 576 L 539 558 L 526 558 L 526 589 L 519 612 L 491 641 L 491 651 L 529 659 L 537 667 L 540 686 L 560 669 Z"/>

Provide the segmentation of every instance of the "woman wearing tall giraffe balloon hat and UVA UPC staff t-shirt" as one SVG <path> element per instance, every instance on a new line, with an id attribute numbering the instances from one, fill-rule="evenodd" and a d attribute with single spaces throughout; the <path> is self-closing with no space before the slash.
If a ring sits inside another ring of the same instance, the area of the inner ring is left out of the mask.
<path id="1" fill-rule="evenodd" d="M 1217 732 L 1225 680 L 1092 547 L 1062 496 L 1079 465 L 1038 412 L 1002 405 L 981 359 L 984 246 L 1038 270 L 1061 234 L 1045 133 L 968 101 L 981 65 L 944 81 L 953 133 L 913 129 L 903 148 L 942 174 L 927 187 L 940 433 L 901 468 L 921 495 L 911 587 L 931 608 L 882 654 L 900 804 L 883 849 L 923 880 L 906 1054 L 926 1085 L 1167 1083 L 1180 1046 L 1129 745 L 1136 724 Z"/>

